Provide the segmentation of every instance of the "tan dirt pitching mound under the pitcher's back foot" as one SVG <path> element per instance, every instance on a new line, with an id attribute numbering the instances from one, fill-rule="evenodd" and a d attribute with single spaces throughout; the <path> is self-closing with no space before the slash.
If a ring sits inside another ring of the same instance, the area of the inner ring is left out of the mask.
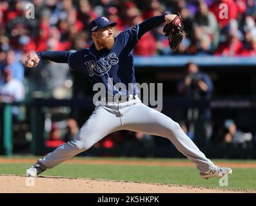
<path id="1" fill-rule="evenodd" d="M 136 183 L 115 180 L 94 180 L 86 178 L 61 178 L 56 176 L 0 175 L 0 192 L 67 192 L 67 193 L 177 193 L 177 192 L 241 192 L 223 189 L 185 185 L 165 185 L 154 183 Z"/>

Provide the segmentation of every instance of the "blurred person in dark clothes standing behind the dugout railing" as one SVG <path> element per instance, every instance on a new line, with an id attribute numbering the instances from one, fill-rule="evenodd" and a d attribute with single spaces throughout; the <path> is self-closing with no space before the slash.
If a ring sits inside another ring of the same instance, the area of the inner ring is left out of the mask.
<path id="1" fill-rule="evenodd" d="M 210 100 L 213 83 L 209 75 L 199 70 L 197 64 L 189 62 L 186 64 L 186 76 L 178 82 L 177 91 L 189 100 Z M 190 133 L 195 136 L 195 142 L 201 145 L 209 142 L 212 137 L 211 109 L 188 108 L 186 116 L 190 122 Z"/>

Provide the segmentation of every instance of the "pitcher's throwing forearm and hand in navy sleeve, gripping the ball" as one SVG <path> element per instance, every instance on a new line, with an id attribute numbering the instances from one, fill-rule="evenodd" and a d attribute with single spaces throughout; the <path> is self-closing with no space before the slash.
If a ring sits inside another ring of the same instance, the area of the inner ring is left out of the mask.
<path id="1" fill-rule="evenodd" d="M 28 67 L 31 61 L 34 61 L 34 66 L 37 66 L 41 59 L 50 60 L 58 63 L 68 63 L 68 57 L 71 52 L 33 52 L 28 55 L 25 61 L 25 66 Z"/>

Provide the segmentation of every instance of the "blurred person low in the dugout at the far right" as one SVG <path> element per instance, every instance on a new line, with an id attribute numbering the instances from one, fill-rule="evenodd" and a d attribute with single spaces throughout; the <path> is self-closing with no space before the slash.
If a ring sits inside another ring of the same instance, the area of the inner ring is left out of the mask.
<path id="1" fill-rule="evenodd" d="M 251 142 L 253 135 L 251 133 L 244 133 L 237 128 L 233 120 L 225 120 L 224 126 L 228 129 L 228 133 L 224 136 L 226 144 L 244 144 Z"/>

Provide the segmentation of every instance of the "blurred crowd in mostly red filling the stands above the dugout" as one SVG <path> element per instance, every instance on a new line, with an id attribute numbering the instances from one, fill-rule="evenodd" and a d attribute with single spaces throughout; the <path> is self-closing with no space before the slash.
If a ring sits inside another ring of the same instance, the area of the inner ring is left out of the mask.
<path id="1" fill-rule="evenodd" d="M 35 6 L 34 19 L 26 19 L 28 3 Z M 222 8 L 222 3 L 226 7 Z M 179 12 L 188 33 L 177 54 L 256 55 L 254 0 L 1 1 L 1 52 L 12 49 L 24 59 L 31 51 L 79 50 L 92 43 L 88 24 L 99 15 L 117 22 L 114 30 L 118 34 L 165 11 Z M 172 53 L 162 33 L 163 26 L 143 36 L 135 55 Z"/>

